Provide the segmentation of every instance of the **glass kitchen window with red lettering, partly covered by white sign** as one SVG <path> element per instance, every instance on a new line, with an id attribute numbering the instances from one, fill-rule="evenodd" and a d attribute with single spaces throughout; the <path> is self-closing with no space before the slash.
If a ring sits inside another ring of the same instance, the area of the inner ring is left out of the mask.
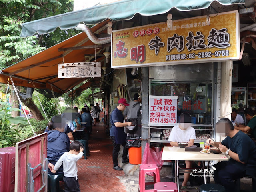
<path id="1" fill-rule="evenodd" d="M 187 112 L 194 124 L 212 124 L 212 82 L 152 81 L 150 94 L 178 96 L 178 116 Z"/>

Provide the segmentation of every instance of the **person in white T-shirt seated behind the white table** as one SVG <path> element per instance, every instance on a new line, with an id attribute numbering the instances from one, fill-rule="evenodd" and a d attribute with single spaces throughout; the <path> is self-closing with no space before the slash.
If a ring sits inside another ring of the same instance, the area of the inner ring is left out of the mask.
<path id="1" fill-rule="evenodd" d="M 194 144 L 196 139 L 195 129 L 190 126 L 191 117 L 188 113 L 182 113 L 180 115 L 180 124 L 174 126 L 170 133 L 169 140 L 172 146 L 178 147 L 178 142 L 188 142 L 188 147 Z M 185 161 L 186 168 L 192 168 L 193 161 Z M 186 170 L 189 171 L 189 170 Z M 187 189 L 186 185 L 189 179 L 189 173 L 184 173 L 184 180 L 181 189 Z"/>

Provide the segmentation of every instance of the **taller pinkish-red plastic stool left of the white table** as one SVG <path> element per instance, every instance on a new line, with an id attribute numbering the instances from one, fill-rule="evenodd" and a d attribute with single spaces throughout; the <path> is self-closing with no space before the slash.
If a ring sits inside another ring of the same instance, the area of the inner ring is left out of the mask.
<path id="1" fill-rule="evenodd" d="M 145 183 L 145 174 L 154 173 L 154 182 Z M 159 169 L 155 164 L 140 165 L 139 192 L 154 192 L 154 189 L 146 190 L 146 185 L 153 185 L 160 182 Z"/>

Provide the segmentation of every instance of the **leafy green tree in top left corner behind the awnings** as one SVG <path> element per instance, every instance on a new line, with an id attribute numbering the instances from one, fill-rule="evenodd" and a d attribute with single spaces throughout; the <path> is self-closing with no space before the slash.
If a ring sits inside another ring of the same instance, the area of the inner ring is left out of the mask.
<path id="1" fill-rule="evenodd" d="M 51 34 L 20 37 L 22 23 L 70 12 L 73 1 L 0 0 L 0 69 L 77 34 L 74 29 L 58 29 Z"/>

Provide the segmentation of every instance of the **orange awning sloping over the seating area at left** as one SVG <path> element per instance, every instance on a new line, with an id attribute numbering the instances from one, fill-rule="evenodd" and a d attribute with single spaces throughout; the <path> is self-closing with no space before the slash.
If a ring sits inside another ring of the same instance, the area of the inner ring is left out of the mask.
<path id="1" fill-rule="evenodd" d="M 90 30 L 94 34 L 101 34 L 107 32 L 106 24 L 108 21 L 102 22 Z M 91 48 L 58 51 L 59 48 L 90 46 Z M 12 76 L 14 85 L 33 87 L 31 81 L 33 80 L 36 88 L 52 89 L 55 92 L 64 93 L 72 89 L 74 86 L 86 80 L 86 78 L 58 78 L 58 64 L 71 62 L 84 62 L 84 54 L 95 54 L 96 45 L 90 41 L 84 32 L 81 32 L 63 42 L 56 44 L 38 54 L 30 56 L 12 66 L 9 66 L 1 71 L 0 83 L 7 83 L 9 74 Z M 101 48 L 105 52 L 104 48 Z M 97 48 L 97 52 L 98 52 Z M 98 57 L 96 61 L 104 59 L 104 56 Z M 97 78 L 99 80 L 99 78 Z M 29 82 L 30 81 L 30 82 Z M 10 84 L 11 81 L 9 81 Z"/>

